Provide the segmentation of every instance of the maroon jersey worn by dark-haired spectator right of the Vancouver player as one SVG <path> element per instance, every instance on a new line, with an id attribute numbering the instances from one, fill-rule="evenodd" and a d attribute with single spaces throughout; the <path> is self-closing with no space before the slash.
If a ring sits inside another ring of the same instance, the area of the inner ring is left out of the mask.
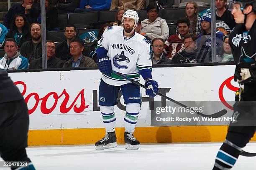
<path id="1" fill-rule="evenodd" d="M 172 35 L 164 42 L 164 49 L 167 52 L 167 57 L 172 58 L 178 52 L 185 49 L 184 39 L 181 35 Z"/>

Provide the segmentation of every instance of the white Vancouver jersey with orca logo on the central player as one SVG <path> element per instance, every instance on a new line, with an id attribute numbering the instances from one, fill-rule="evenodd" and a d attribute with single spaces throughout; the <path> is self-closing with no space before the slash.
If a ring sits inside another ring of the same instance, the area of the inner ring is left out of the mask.
<path id="1" fill-rule="evenodd" d="M 98 47 L 104 47 L 108 51 L 113 71 L 132 80 L 139 80 L 140 69 L 152 69 L 150 42 L 137 32 L 128 38 L 124 36 L 123 27 L 109 27 L 98 41 Z M 115 74 L 109 76 L 102 73 L 102 80 L 115 86 L 130 83 Z"/>

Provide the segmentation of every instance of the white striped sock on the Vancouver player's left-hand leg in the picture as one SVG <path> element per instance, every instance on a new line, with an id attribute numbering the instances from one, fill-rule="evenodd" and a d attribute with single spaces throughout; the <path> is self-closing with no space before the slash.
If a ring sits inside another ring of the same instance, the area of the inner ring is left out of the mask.
<path id="1" fill-rule="evenodd" d="M 114 106 L 100 106 L 100 112 L 105 125 L 106 132 L 115 131 L 115 112 Z"/>

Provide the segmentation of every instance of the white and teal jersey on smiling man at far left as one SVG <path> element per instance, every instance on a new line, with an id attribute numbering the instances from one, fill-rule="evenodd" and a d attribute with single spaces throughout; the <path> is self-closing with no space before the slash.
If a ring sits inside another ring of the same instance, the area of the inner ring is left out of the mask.
<path id="1" fill-rule="evenodd" d="M 11 58 L 8 58 L 6 54 L 4 57 L 0 57 L 0 64 L 5 70 L 28 69 L 28 59 L 21 56 L 20 52 Z"/>

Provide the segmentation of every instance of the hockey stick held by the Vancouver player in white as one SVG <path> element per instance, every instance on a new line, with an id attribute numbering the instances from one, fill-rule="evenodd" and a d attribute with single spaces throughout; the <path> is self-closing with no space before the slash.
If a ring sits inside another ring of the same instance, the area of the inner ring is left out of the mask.
<path id="1" fill-rule="evenodd" d="M 115 71 L 113 71 L 113 70 L 112 70 L 112 72 L 113 72 L 115 75 L 118 75 L 118 76 L 120 76 L 120 77 L 123 77 L 124 79 L 126 79 L 126 80 L 128 80 L 128 81 L 130 81 L 130 82 L 132 82 L 132 83 L 134 83 L 134 84 L 136 84 L 136 85 L 138 85 L 138 86 L 141 86 L 141 87 L 143 87 L 144 89 L 147 89 L 147 87 L 146 87 L 145 85 L 142 85 L 141 83 L 139 83 L 139 82 L 137 82 L 137 81 L 134 81 L 134 80 L 130 79 L 129 77 L 126 77 L 125 75 L 122 75 L 122 74 L 119 73 L 119 72 L 115 72 Z M 163 94 L 161 94 L 160 92 L 157 92 L 156 94 L 159 95 L 159 96 L 161 96 L 161 97 L 163 97 L 163 98 L 165 98 L 165 99 L 167 99 L 167 100 L 170 100 L 171 102 L 174 102 L 174 103 L 177 104 L 177 105 L 180 105 L 180 106 L 182 106 L 182 107 L 185 107 L 185 108 L 189 108 L 189 109 L 190 109 L 190 107 L 188 107 L 188 106 L 186 106 L 186 105 L 184 105 L 184 104 L 182 104 L 182 103 L 180 103 L 180 102 L 178 102 L 178 101 L 176 101 L 176 100 L 173 100 L 172 98 L 167 97 L 166 95 L 163 95 Z M 213 118 L 217 118 L 217 117 L 221 117 L 221 116 L 225 115 L 225 114 L 227 113 L 227 110 L 223 109 L 223 110 L 220 110 L 219 112 L 214 113 L 214 114 L 212 114 L 212 115 L 205 115 L 205 114 L 203 114 L 203 113 L 201 113 L 201 112 L 195 112 L 195 113 L 197 113 L 198 115 L 200 115 L 200 116 L 202 116 L 202 117 L 213 117 Z"/>

